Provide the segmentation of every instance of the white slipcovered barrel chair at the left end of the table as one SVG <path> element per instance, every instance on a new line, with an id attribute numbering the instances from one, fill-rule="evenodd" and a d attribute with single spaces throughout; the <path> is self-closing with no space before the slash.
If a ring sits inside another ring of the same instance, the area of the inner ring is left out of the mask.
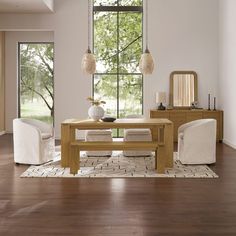
<path id="1" fill-rule="evenodd" d="M 55 152 L 54 129 L 39 120 L 13 120 L 14 161 L 38 165 L 53 160 Z"/>

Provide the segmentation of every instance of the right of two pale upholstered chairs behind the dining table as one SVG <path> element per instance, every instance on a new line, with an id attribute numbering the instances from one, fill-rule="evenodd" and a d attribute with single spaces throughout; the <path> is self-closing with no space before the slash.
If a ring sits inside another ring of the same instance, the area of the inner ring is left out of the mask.
<path id="1" fill-rule="evenodd" d="M 126 118 L 143 118 L 142 115 L 129 115 Z M 150 129 L 125 129 L 124 130 L 124 142 L 135 141 L 152 141 L 152 134 Z M 149 150 L 142 151 L 123 151 L 124 156 L 151 156 L 152 152 Z"/>

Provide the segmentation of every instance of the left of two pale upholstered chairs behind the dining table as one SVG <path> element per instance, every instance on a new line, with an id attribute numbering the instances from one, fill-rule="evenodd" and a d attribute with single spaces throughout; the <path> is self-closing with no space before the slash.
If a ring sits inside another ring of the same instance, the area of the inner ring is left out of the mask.
<path id="1" fill-rule="evenodd" d="M 111 130 L 87 130 L 85 133 L 85 141 L 87 142 L 111 142 Z M 87 156 L 111 156 L 112 151 L 86 151 Z"/>

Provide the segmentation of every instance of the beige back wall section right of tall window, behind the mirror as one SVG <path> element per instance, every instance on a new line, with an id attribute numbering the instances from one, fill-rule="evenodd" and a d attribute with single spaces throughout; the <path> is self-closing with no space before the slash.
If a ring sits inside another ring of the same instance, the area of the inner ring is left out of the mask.
<path id="1" fill-rule="evenodd" d="M 174 70 L 197 72 L 199 104 L 206 108 L 208 92 L 217 96 L 218 1 L 149 0 L 149 38 L 156 68 L 145 78 L 146 110 L 155 106 L 156 91 L 169 91 Z"/>

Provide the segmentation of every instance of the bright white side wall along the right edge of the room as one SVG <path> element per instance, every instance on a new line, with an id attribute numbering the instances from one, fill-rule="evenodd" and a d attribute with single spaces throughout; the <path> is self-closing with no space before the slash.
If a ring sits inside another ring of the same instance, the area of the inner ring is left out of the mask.
<path id="1" fill-rule="evenodd" d="M 236 1 L 220 0 L 219 93 L 224 110 L 224 142 L 236 148 Z"/>

